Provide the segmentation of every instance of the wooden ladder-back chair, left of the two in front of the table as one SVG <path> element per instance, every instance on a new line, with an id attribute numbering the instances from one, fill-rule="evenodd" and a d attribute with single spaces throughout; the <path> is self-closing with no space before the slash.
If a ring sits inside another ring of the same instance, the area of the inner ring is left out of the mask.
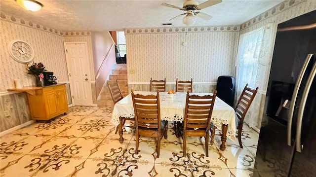
<path id="1" fill-rule="evenodd" d="M 160 140 L 167 139 L 168 121 L 160 121 L 159 91 L 157 95 L 134 94 L 132 100 L 136 124 L 136 154 L 138 154 L 140 136 L 157 138 L 157 157 L 160 153 Z"/>

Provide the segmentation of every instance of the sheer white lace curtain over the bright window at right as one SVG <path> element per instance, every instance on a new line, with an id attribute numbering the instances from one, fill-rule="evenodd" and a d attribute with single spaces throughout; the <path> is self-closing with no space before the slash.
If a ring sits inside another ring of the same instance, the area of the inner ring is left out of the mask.
<path id="1" fill-rule="evenodd" d="M 260 128 L 262 118 L 262 90 L 266 90 L 271 63 L 271 24 L 240 35 L 237 51 L 237 98 L 244 86 L 259 87 L 244 122 Z"/>

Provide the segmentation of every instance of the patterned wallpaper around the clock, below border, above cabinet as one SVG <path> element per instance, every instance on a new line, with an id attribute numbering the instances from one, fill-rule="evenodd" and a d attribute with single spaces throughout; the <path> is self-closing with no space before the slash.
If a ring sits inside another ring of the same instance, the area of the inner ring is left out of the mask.
<path id="1" fill-rule="evenodd" d="M 0 92 L 14 88 L 14 79 L 22 86 L 35 85 L 34 76 L 26 74 L 26 65 L 9 55 L 8 45 L 15 39 L 27 41 L 34 48 L 34 62 L 42 62 L 46 70 L 53 71 L 57 81 L 68 81 L 62 36 L 4 20 L 0 20 L 0 26 Z"/>

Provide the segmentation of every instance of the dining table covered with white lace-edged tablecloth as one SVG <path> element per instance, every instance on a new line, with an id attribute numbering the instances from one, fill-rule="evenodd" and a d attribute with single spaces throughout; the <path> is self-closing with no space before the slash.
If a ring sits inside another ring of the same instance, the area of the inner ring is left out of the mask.
<path id="1" fill-rule="evenodd" d="M 134 91 L 134 94 L 156 95 L 157 92 Z M 213 93 L 190 93 L 190 95 L 213 95 Z M 159 92 L 160 119 L 183 122 L 185 106 L 185 92 L 177 92 L 172 98 L 169 98 L 167 92 Z M 112 123 L 118 126 L 119 142 L 123 142 L 123 120 L 134 120 L 134 107 L 131 94 L 128 94 L 122 100 L 114 105 L 112 112 Z M 233 107 L 226 104 L 223 100 L 216 97 L 213 112 L 211 115 L 211 124 L 216 129 L 221 129 L 220 149 L 225 150 L 227 138 L 235 141 L 236 139 L 236 119 Z M 213 141 L 213 140 L 211 140 Z M 212 145 L 212 143 L 211 143 Z"/>

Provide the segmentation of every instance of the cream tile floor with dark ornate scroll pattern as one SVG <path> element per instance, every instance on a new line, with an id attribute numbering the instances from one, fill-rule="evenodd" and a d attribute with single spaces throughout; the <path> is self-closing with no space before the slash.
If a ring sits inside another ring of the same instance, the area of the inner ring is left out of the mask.
<path id="1" fill-rule="evenodd" d="M 243 146 L 228 140 L 219 150 L 220 136 L 209 145 L 188 138 L 162 139 L 156 157 L 155 139 L 142 137 L 135 154 L 135 136 L 126 127 L 118 142 L 111 123 L 111 107 L 74 106 L 68 115 L 50 123 L 34 123 L 0 137 L 0 177 L 251 177 L 259 135 L 243 126 Z M 130 122 L 132 123 L 132 122 Z"/>

